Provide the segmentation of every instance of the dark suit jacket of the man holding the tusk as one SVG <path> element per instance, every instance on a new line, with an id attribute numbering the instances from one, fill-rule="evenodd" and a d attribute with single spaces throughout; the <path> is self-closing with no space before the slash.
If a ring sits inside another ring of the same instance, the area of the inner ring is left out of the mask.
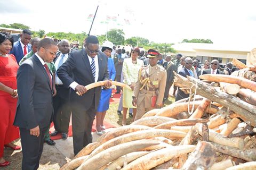
<path id="1" fill-rule="evenodd" d="M 102 52 L 98 53 L 99 62 L 99 78 L 98 81 L 108 80 L 108 58 Z M 69 76 L 73 73 L 73 78 Z M 90 61 L 87 57 L 85 49 L 75 50 L 69 54 L 68 60 L 63 63 L 57 70 L 58 77 L 67 88 L 72 82 L 77 82 L 82 86 L 94 83 Z M 88 90 L 83 96 L 78 96 L 76 91 L 70 88 L 70 104 L 71 107 L 87 111 L 95 101 L 95 108 L 98 107 L 100 100 L 101 87 Z"/>

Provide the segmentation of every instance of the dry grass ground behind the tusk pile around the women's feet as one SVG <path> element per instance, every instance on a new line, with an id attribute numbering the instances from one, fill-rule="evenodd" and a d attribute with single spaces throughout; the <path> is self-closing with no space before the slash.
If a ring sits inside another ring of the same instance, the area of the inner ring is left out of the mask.
<path id="1" fill-rule="evenodd" d="M 164 105 L 170 105 L 175 101 L 175 98 L 169 97 L 168 100 L 165 101 Z M 115 125 L 116 127 L 122 126 L 122 118 L 123 118 L 123 112 L 122 115 L 119 116 L 117 114 L 117 108 L 118 108 L 118 103 L 116 104 L 110 104 L 109 109 L 107 111 L 105 120 L 110 123 Z M 132 123 L 132 118 L 129 117 L 129 113 L 126 115 L 126 124 L 131 124 Z"/>

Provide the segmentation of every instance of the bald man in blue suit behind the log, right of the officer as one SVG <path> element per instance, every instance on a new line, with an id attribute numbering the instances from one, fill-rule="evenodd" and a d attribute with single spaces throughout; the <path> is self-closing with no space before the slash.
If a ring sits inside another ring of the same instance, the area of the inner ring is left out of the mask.
<path id="1" fill-rule="evenodd" d="M 185 78 L 187 77 L 187 75 L 191 76 L 191 77 L 195 77 L 193 71 L 191 70 L 192 66 L 193 66 L 193 60 L 190 57 L 187 57 L 185 59 L 184 67 L 179 71 L 178 74 L 182 75 Z M 184 99 L 184 98 L 187 98 L 187 97 L 189 97 L 189 94 L 185 94 L 185 92 L 183 92 L 179 88 L 178 92 L 177 92 L 177 95 L 175 97 L 175 101 L 178 101 L 178 100 L 181 100 L 181 99 Z"/>

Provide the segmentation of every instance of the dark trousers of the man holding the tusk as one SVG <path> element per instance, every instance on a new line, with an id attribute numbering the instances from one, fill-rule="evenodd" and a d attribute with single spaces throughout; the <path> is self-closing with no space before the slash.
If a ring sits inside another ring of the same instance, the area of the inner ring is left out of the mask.
<path id="1" fill-rule="evenodd" d="M 96 115 L 96 108 L 93 104 L 87 111 L 72 108 L 72 133 L 74 154 L 78 154 L 86 145 L 92 143 L 92 124 Z"/>

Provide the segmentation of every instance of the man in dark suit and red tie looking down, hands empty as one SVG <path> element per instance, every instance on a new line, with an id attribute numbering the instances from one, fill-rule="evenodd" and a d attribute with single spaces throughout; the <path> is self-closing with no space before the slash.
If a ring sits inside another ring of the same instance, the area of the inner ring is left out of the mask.
<path id="1" fill-rule="evenodd" d="M 20 127 L 22 169 L 37 169 L 44 134 L 53 114 L 52 75 L 45 62 L 53 61 L 58 47 L 50 38 L 39 41 L 38 51 L 19 67 L 19 100 L 14 125 Z"/>

